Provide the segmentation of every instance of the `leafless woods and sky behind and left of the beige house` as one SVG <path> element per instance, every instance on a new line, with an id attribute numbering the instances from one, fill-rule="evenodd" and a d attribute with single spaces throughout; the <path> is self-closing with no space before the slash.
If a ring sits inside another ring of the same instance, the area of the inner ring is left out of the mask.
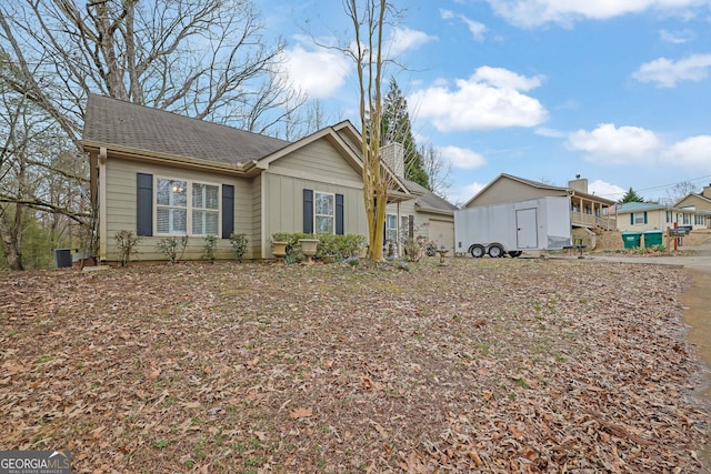
<path id="1" fill-rule="evenodd" d="M 263 37 L 248 0 L 0 6 L 0 235 L 10 269 L 27 253 L 91 249 L 96 210 L 80 138 L 89 92 L 274 132 L 306 98 L 280 67 L 284 42 Z M 33 249 L 33 244 L 38 249 Z M 51 255 L 50 255 L 51 256 Z"/>

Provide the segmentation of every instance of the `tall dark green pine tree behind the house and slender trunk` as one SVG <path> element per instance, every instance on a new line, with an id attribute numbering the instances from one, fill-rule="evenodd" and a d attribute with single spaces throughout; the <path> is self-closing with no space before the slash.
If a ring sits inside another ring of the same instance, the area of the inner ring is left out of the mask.
<path id="1" fill-rule="evenodd" d="M 404 177 L 429 189 L 429 177 L 422 164 L 422 154 L 418 150 L 412 135 L 408 101 L 402 95 L 394 78 L 390 78 L 389 88 L 382 104 L 382 118 L 380 121 L 382 143 L 402 143 L 404 149 Z"/>

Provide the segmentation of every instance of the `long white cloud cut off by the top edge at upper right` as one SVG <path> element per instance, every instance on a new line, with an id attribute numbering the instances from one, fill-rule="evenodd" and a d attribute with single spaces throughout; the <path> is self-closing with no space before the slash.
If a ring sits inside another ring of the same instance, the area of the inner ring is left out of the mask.
<path id="1" fill-rule="evenodd" d="M 572 26 L 578 20 L 607 20 L 648 10 L 684 13 L 707 0 L 487 0 L 491 9 L 512 24 L 532 28 L 544 23 Z"/>

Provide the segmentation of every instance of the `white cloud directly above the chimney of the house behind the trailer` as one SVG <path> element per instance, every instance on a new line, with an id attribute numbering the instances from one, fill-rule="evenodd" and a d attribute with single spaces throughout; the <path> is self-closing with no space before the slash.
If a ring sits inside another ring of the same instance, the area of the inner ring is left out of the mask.
<path id="1" fill-rule="evenodd" d="M 639 127 L 603 123 L 589 132 L 578 130 L 568 135 L 568 149 L 585 151 L 591 161 L 607 164 L 652 164 L 662 147 L 654 132 Z"/>

